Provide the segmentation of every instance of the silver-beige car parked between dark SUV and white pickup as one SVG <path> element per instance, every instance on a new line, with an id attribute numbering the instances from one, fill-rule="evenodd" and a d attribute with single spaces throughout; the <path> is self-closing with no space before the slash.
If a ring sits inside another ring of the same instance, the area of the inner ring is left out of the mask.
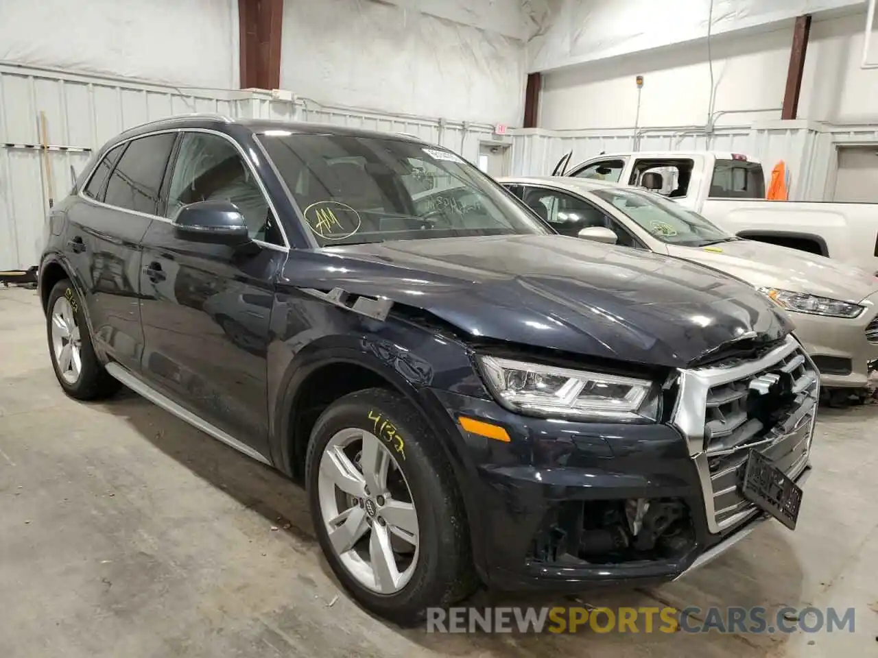
<path id="1" fill-rule="evenodd" d="M 860 389 L 878 360 L 878 278 L 742 240 L 659 194 L 581 178 L 500 178 L 564 235 L 667 254 L 738 277 L 790 311 L 826 388 Z M 840 391 L 839 391 L 840 392 Z"/>

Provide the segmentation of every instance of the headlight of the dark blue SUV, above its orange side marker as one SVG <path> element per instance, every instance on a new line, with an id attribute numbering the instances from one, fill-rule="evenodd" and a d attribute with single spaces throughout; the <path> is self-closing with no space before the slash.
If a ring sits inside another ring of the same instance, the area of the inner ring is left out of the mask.
<path id="1" fill-rule="evenodd" d="M 479 356 L 497 401 L 532 416 L 604 422 L 655 422 L 659 395 L 648 380 Z"/>

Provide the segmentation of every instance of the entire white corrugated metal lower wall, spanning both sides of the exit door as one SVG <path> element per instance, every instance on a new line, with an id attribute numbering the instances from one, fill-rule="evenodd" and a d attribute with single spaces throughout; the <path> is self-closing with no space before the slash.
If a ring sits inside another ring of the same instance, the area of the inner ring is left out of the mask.
<path id="1" fill-rule="evenodd" d="M 40 112 L 47 119 L 47 142 L 54 147 L 87 149 L 49 151 L 52 189 L 48 190 L 43 154 L 9 145 L 40 143 Z M 477 162 L 483 145 L 511 146 L 508 172 L 551 173 L 567 151 L 572 161 L 630 151 L 634 133 L 616 131 L 549 132 L 519 130 L 498 137 L 493 127 L 414 116 L 387 115 L 310 101 L 280 101 L 265 92 L 189 90 L 161 85 L 73 75 L 60 71 L 0 65 L 0 269 L 36 264 L 49 195 L 67 194 L 72 166 L 78 173 L 114 134 L 146 121 L 186 112 L 218 112 L 234 118 L 277 118 L 348 125 L 385 132 L 407 132 L 441 144 Z M 638 133 L 638 150 L 716 149 L 759 158 L 770 171 L 786 161 L 790 198 L 817 201 L 831 195 L 839 143 L 878 144 L 875 126 L 774 125 L 717 128 L 711 135 L 687 129 Z"/>

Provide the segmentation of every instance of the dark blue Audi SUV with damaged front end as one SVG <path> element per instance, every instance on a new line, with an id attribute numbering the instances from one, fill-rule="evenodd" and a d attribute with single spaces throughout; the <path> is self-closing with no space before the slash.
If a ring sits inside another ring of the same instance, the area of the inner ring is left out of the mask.
<path id="1" fill-rule="evenodd" d="M 795 526 L 818 383 L 781 311 L 560 236 L 443 147 L 170 118 L 107 143 L 46 236 L 68 395 L 125 384 L 304 481 L 385 617 L 667 580 Z"/>

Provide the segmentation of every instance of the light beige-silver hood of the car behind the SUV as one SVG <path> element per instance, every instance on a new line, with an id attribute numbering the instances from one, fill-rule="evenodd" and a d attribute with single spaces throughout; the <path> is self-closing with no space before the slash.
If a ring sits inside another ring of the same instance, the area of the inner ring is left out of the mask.
<path id="1" fill-rule="evenodd" d="M 760 287 L 807 292 L 820 297 L 860 300 L 878 291 L 878 278 L 817 254 L 756 240 L 735 240 L 709 247 L 669 246 L 668 253 Z"/>

